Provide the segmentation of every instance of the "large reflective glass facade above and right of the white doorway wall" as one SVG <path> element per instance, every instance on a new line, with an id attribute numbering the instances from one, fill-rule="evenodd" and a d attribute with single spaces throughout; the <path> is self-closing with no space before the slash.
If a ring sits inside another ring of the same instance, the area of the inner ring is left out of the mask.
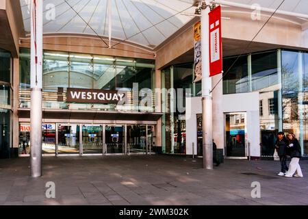
<path id="1" fill-rule="evenodd" d="M 279 49 L 236 59 L 224 58 L 223 94 L 259 92 L 261 155 L 273 155 L 278 131 L 294 132 L 307 155 L 308 53 Z"/>

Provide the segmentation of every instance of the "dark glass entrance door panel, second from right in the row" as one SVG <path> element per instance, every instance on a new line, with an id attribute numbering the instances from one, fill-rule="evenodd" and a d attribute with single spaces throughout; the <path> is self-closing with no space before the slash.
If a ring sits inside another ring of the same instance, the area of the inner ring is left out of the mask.
<path id="1" fill-rule="evenodd" d="M 127 143 L 129 153 L 144 153 L 146 151 L 146 125 L 128 125 Z"/>

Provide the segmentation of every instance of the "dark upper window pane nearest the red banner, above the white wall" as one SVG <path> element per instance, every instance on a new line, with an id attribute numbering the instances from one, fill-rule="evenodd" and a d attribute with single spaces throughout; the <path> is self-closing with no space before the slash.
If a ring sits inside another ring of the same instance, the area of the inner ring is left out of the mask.
<path id="1" fill-rule="evenodd" d="M 224 58 L 224 73 L 233 65 L 237 57 Z M 223 93 L 236 94 L 249 92 L 247 55 L 241 56 L 223 80 Z"/>

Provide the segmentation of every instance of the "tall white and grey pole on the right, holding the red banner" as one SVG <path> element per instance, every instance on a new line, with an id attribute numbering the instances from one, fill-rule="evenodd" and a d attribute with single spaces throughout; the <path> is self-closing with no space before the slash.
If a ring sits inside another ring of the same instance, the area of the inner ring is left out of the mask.
<path id="1" fill-rule="evenodd" d="M 209 77 L 209 7 L 201 10 L 203 168 L 213 169 L 212 96 Z"/>

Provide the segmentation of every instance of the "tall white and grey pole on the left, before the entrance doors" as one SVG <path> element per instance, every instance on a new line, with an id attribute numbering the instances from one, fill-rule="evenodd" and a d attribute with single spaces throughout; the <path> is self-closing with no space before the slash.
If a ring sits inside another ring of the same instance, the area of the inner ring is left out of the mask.
<path id="1" fill-rule="evenodd" d="M 42 7 L 31 0 L 31 177 L 42 176 Z"/>

